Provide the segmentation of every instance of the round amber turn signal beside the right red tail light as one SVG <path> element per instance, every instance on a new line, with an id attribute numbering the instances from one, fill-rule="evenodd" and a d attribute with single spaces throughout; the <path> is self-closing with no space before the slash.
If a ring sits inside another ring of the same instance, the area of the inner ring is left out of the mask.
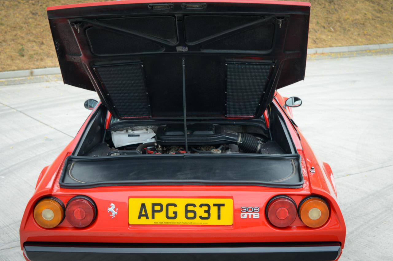
<path id="1" fill-rule="evenodd" d="M 312 197 L 301 203 L 299 215 L 306 226 L 318 228 L 329 218 L 329 207 L 325 200 Z"/>

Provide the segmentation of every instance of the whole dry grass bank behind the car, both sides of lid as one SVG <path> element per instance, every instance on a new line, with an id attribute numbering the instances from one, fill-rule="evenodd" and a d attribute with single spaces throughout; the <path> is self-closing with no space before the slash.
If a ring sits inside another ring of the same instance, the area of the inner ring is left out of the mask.
<path id="1" fill-rule="evenodd" d="M 88 0 L 0 0 L 0 71 L 59 66 L 46 7 Z M 309 48 L 393 42 L 393 0 L 311 0 Z"/>

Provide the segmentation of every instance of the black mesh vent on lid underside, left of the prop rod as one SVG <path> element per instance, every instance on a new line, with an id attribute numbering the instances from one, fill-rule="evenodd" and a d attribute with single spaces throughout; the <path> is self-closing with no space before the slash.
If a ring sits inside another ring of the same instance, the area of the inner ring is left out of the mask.
<path id="1" fill-rule="evenodd" d="M 150 118 L 142 63 L 96 67 L 120 118 Z"/>

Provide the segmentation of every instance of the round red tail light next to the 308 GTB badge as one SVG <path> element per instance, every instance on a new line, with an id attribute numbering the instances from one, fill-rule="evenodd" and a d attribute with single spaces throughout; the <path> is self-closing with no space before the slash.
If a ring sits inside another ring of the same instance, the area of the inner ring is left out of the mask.
<path id="1" fill-rule="evenodd" d="M 266 207 L 268 220 L 279 228 L 285 228 L 292 224 L 297 214 L 295 202 L 287 196 L 273 198 Z"/>

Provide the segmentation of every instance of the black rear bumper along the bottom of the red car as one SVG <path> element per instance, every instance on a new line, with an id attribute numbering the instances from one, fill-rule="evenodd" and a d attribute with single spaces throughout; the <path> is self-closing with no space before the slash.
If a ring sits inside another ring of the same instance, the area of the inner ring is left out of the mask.
<path id="1" fill-rule="evenodd" d="M 99 244 L 26 242 L 23 250 L 30 261 L 333 261 L 341 253 L 339 243 Z"/>

